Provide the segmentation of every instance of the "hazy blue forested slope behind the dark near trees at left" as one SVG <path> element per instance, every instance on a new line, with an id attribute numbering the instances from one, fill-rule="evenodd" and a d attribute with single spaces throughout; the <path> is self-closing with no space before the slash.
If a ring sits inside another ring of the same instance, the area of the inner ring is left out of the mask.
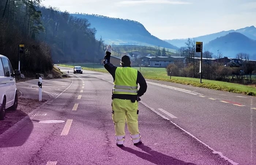
<path id="1" fill-rule="evenodd" d="M 98 62 L 102 58 L 103 41 L 95 39 L 95 28 L 87 19 L 41 7 L 45 32 L 39 39 L 52 48 L 52 59 L 57 62 Z"/>

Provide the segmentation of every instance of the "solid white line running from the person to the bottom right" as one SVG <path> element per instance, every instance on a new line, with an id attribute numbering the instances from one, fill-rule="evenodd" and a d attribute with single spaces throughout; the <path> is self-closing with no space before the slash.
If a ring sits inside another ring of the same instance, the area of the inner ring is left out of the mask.
<path id="1" fill-rule="evenodd" d="M 154 110 L 152 107 L 148 106 L 146 103 L 140 101 L 140 103 L 142 103 L 144 106 L 148 107 L 150 110 L 152 110 L 153 112 L 155 112 L 156 114 L 158 114 L 159 116 L 161 116 L 164 119 L 167 119 L 170 121 L 170 119 L 166 118 L 165 116 L 163 116 L 162 114 L 160 114 L 158 111 Z M 229 159 L 228 157 L 224 156 L 221 152 L 218 152 L 214 149 L 212 149 L 209 145 L 205 144 L 204 142 L 202 142 L 201 140 L 199 140 L 197 137 L 195 137 L 193 134 L 189 133 L 188 131 L 186 131 L 185 129 L 183 129 L 182 127 L 178 126 L 176 123 L 170 121 L 171 123 L 173 123 L 176 127 L 178 127 L 179 129 L 181 129 L 182 131 L 184 131 L 185 133 L 187 133 L 188 135 L 190 135 L 191 137 L 195 138 L 197 141 L 199 141 L 200 143 L 202 143 L 204 146 L 208 147 L 209 149 L 212 150 L 212 153 L 214 154 L 218 154 L 219 156 L 221 156 L 223 159 L 229 161 L 231 164 L 233 165 L 238 165 L 238 163 L 234 162 L 233 160 Z"/>

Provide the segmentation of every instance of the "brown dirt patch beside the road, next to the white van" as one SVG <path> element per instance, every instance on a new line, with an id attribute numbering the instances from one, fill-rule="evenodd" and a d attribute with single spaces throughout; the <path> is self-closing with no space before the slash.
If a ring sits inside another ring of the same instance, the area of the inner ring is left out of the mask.
<path id="1" fill-rule="evenodd" d="M 18 95 L 20 95 L 20 93 L 18 93 Z M 15 123 L 23 119 L 44 102 L 46 102 L 46 100 L 38 101 L 38 99 L 18 98 L 17 110 L 5 111 L 5 119 L 0 121 L 0 134 L 15 125 Z"/>

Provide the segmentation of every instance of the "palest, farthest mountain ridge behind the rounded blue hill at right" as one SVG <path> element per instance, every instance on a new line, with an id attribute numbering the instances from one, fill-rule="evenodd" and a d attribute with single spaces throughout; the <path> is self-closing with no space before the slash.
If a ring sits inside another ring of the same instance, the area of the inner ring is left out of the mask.
<path id="1" fill-rule="evenodd" d="M 225 36 L 225 35 L 229 34 L 230 32 L 239 32 L 239 33 L 247 36 L 248 38 L 256 40 L 256 28 L 254 26 L 245 27 L 245 28 L 241 28 L 238 30 L 221 31 L 221 32 L 213 33 L 213 34 L 209 34 L 209 35 L 203 35 L 203 36 L 195 37 L 195 40 L 203 42 L 204 44 L 207 44 L 211 40 L 214 40 L 221 36 Z M 165 40 L 165 41 L 170 44 L 173 44 L 174 46 L 182 47 L 182 46 L 185 46 L 185 42 L 187 42 L 187 40 L 188 40 L 188 38 L 172 39 L 172 40 Z"/>

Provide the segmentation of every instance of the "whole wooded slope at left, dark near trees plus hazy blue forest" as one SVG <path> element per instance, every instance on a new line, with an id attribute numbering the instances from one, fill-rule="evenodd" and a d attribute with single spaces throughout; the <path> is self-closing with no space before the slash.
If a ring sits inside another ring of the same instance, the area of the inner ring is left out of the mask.
<path id="1" fill-rule="evenodd" d="M 7 56 L 20 70 L 46 72 L 53 63 L 94 62 L 102 58 L 102 39 L 96 39 L 95 28 L 87 19 L 68 12 L 40 6 L 41 0 L 0 1 L 0 54 Z"/>

